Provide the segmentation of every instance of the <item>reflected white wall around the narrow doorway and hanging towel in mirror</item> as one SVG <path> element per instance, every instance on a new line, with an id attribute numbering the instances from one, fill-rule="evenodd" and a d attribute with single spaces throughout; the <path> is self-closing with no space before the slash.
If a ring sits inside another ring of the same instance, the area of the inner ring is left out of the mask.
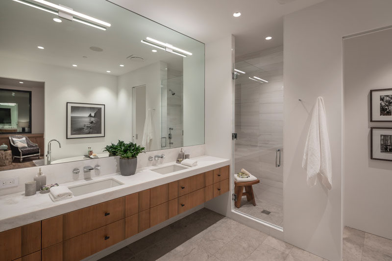
<path id="1" fill-rule="evenodd" d="M 132 87 L 146 85 L 146 111 L 152 113 L 153 137 L 148 150 L 161 149 L 161 64 L 153 63 L 118 76 L 118 111 L 122 120 L 117 128 L 121 130 L 119 139 L 132 141 Z M 143 134 L 140 139 L 143 139 Z"/>

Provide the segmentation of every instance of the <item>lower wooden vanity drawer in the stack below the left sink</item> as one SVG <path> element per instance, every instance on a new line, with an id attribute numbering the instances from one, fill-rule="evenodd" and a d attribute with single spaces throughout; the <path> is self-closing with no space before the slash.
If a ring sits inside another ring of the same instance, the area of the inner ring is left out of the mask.
<path id="1" fill-rule="evenodd" d="M 63 261 L 76 261 L 125 239 L 125 219 L 64 241 Z M 56 259 L 55 257 L 54 260 Z M 52 259 L 53 260 L 53 259 Z"/>

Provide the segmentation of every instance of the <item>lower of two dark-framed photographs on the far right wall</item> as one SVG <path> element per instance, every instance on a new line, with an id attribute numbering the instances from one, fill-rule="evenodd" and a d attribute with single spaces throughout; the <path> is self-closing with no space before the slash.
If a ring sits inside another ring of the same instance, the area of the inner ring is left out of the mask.
<path id="1" fill-rule="evenodd" d="M 370 159 L 392 161 L 392 128 L 370 128 Z"/>

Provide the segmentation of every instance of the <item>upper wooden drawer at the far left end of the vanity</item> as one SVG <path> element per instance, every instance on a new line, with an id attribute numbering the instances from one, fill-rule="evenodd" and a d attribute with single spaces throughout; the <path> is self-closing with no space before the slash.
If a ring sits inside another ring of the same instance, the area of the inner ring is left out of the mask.
<path id="1" fill-rule="evenodd" d="M 0 232 L 0 260 L 15 260 L 41 250 L 41 221 Z"/>

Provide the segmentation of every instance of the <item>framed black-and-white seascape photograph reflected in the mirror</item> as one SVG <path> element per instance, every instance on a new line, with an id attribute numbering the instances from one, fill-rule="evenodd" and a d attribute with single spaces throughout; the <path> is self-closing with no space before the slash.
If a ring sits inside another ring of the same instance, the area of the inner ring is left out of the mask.
<path id="1" fill-rule="evenodd" d="M 67 102 L 67 139 L 105 137 L 105 105 Z"/>

